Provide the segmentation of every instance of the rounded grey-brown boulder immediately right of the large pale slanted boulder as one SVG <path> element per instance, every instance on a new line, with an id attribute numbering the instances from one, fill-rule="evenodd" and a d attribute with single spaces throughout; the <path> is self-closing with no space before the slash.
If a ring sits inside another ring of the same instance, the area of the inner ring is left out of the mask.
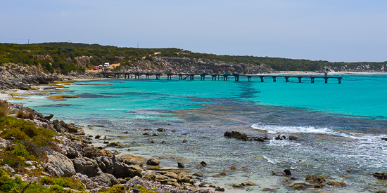
<path id="1" fill-rule="evenodd" d="M 74 159 L 74 167 L 77 173 L 82 173 L 89 177 L 100 175 L 102 173 L 97 162 L 87 157 L 78 157 Z"/>

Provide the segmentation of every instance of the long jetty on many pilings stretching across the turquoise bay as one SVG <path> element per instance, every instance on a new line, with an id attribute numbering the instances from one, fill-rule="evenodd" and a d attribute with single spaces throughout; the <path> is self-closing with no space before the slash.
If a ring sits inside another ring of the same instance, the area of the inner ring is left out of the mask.
<path id="1" fill-rule="evenodd" d="M 208 74 L 207 72 L 202 74 L 184 74 L 184 73 L 144 73 L 144 72 L 99 72 L 104 77 L 114 76 L 116 79 L 120 76 L 124 76 L 125 79 L 129 79 L 131 76 L 134 76 L 134 79 L 140 79 L 141 76 L 145 76 L 145 79 L 150 79 L 151 76 L 156 76 L 156 80 L 160 79 L 160 76 L 166 75 L 167 80 L 172 80 L 172 76 L 179 76 L 179 80 L 195 80 L 195 76 L 200 76 L 201 81 L 205 80 L 205 76 L 211 76 L 212 81 L 222 80 L 228 81 L 229 76 L 234 76 L 235 81 L 239 81 L 240 76 L 246 76 L 248 81 L 252 81 L 253 77 L 259 77 L 261 82 L 264 82 L 265 77 L 271 77 L 273 82 L 277 81 L 277 78 L 284 78 L 286 82 L 289 82 L 289 79 L 297 78 L 298 82 L 302 82 L 302 79 L 310 79 L 310 83 L 315 83 L 315 79 L 324 79 L 325 83 L 328 83 L 328 79 L 338 79 L 338 84 L 341 84 L 342 76 L 328 76 L 328 74 L 319 75 L 319 74 L 244 74 L 239 73 L 232 74 Z"/>

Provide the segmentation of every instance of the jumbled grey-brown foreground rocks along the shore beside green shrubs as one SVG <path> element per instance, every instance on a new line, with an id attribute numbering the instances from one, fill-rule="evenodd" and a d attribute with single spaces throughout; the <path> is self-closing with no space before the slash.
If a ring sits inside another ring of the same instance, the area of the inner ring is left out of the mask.
<path id="1" fill-rule="evenodd" d="M 35 126 L 58 133 L 53 137 L 56 141 L 53 147 L 44 149 L 45 161 L 17 170 L 8 165 L 2 166 L 13 178 L 18 176 L 25 182 L 39 182 L 39 178 L 44 176 L 71 177 L 80 180 L 88 192 L 99 192 L 113 185 L 123 185 L 128 192 L 139 192 L 136 185 L 158 189 L 158 192 L 212 192 L 210 189 L 199 188 L 196 180 L 200 180 L 200 177 L 195 180 L 193 175 L 187 174 L 190 171 L 160 168 L 160 161 L 154 158 L 147 160 L 132 155 L 115 157 L 114 152 L 104 147 L 90 145 L 91 136 L 85 135 L 79 126 L 66 124 L 64 121 L 51 121 L 52 115 L 44 117 L 23 105 L 8 104 L 11 112 L 32 114 L 33 120 L 25 120 L 32 121 Z M 0 138 L 1 148 L 15 145 L 13 140 Z M 40 172 L 34 172 L 34 175 L 25 173 L 29 170 Z"/>

